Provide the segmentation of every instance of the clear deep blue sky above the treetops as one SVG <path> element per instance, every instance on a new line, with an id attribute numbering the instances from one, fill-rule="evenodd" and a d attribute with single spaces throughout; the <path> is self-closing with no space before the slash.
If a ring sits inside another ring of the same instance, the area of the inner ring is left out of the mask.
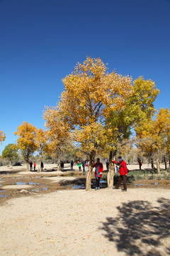
<path id="1" fill-rule="evenodd" d="M 170 0 L 0 0 L 0 130 L 44 127 L 62 78 L 86 56 L 135 79 L 155 81 L 155 107 L 169 107 Z"/>

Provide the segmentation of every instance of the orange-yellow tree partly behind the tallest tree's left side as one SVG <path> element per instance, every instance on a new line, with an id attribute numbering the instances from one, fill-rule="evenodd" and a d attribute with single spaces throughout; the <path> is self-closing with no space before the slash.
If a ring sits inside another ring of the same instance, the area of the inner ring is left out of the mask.
<path id="1" fill-rule="evenodd" d="M 72 142 L 67 122 L 64 122 L 59 107 L 45 107 L 43 115 L 47 128 L 48 151 L 57 156 L 57 170 L 60 171 L 60 156 Z"/>

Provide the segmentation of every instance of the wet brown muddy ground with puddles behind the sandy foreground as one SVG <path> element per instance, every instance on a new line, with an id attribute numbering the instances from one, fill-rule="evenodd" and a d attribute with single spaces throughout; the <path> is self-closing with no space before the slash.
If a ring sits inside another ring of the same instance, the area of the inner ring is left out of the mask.
<path id="1" fill-rule="evenodd" d="M 36 171 L 29 171 L 28 174 L 21 174 L 21 171 L 1 171 L 0 174 L 0 204 L 8 198 L 21 196 L 35 196 L 40 193 L 50 193 L 66 189 L 85 189 L 86 172 L 62 171 L 56 174 L 55 171 L 47 171 L 43 174 Z M 101 178 L 101 188 L 107 188 L 106 175 Z M 57 179 L 57 177 L 59 177 Z M 70 178 L 72 177 L 72 179 Z M 91 188 L 96 187 L 96 179 L 91 178 Z M 123 185 L 122 185 L 123 187 Z M 169 180 L 136 180 L 128 182 L 128 188 L 170 188 Z"/>

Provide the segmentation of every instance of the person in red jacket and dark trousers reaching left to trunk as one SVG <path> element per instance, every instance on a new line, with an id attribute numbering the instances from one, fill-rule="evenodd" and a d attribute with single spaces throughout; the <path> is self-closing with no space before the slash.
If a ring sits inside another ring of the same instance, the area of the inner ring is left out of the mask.
<path id="1" fill-rule="evenodd" d="M 126 166 L 125 161 L 123 161 L 122 156 L 119 156 L 118 162 L 113 161 L 113 164 L 116 164 L 119 166 L 119 172 L 120 176 L 118 178 L 118 183 L 115 184 L 115 189 L 118 189 L 123 181 L 123 189 L 122 191 L 127 191 L 127 174 L 128 174 L 128 168 Z"/>

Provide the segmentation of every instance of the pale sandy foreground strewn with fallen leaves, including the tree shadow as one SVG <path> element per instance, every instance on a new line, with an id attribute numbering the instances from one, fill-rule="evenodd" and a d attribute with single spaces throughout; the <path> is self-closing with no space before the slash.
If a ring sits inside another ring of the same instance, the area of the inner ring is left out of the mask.
<path id="1" fill-rule="evenodd" d="M 169 198 L 105 188 L 11 199 L 0 208 L 0 255 L 170 255 Z"/>

